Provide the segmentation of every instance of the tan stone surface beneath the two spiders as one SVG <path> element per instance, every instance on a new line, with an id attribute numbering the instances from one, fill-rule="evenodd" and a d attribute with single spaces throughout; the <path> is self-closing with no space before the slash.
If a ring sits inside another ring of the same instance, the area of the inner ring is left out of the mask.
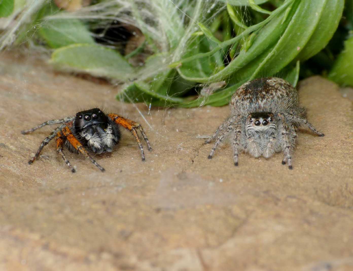
<path id="1" fill-rule="evenodd" d="M 53 72 L 35 57 L 1 55 L 0 270 L 353 270 L 352 102 L 320 77 L 300 84 L 309 120 L 325 133 L 299 135 L 293 170 L 224 146 L 209 160 L 222 108 L 148 111 L 114 99 L 116 88 Z M 50 133 L 20 130 L 90 106 L 142 123 L 146 161 L 124 132 L 106 172 L 67 153 Z"/>

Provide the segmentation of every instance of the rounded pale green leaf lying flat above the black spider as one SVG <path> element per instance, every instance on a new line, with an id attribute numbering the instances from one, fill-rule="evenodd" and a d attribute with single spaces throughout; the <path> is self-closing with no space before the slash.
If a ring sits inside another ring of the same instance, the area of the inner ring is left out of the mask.
<path id="1" fill-rule="evenodd" d="M 133 67 L 119 53 L 95 44 L 72 44 L 56 49 L 51 62 L 57 68 L 86 72 L 94 76 L 131 80 Z"/>

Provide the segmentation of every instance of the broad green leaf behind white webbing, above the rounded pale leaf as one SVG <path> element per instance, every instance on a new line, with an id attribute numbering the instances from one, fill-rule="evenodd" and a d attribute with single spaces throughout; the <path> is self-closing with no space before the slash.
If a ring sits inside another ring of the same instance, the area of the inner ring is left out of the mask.
<path id="1" fill-rule="evenodd" d="M 95 43 L 82 21 L 47 17 L 57 12 L 61 11 L 55 5 L 48 4 L 38 13 L 37 23 L 40 23 L 38 35 L 49 47 L 60 48 L 75 43 Z"/>

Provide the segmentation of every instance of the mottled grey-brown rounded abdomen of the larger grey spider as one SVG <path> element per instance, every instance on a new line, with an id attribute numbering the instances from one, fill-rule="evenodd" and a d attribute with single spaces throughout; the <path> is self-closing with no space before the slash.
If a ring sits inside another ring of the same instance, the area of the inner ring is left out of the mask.
<path id="1" fill-rule="evenodd" d="M 241 85 L 229 105 L 232 115 L 289 111 L 298 107 L 298 93 L 281 78 L 260 78 Z"/>

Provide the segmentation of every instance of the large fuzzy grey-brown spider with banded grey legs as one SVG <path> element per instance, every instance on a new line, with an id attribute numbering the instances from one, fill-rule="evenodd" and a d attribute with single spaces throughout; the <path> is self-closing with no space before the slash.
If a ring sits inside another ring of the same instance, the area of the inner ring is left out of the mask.
<path id="1" fill-rule="evenodd" d="M 238 152 L 265 158 L 283 152 L 282 164 L 292 169 L 292 152 L 298 127 L 304 126 L 318 136 L 324 136 L 305 118 L 299 106 L 297 90 L 287 81 L 268 77 L 240 86 L 230 103 L 231 117 L 205 143 L 216 143 L 208 158 L 212 158 L 223 139 L 233 135 L 233 159 L 238 166 Z"/>

